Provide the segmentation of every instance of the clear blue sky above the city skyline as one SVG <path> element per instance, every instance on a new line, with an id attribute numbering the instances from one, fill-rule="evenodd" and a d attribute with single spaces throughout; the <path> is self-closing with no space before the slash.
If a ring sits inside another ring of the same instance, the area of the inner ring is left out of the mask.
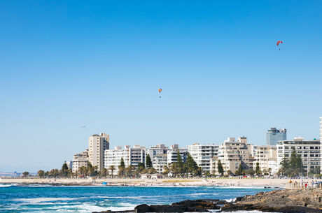
<path id="1" fill-rule="evenodd" d="M 111 147 L 242 135 L 264 145 L 273 126 L 318 138 L 321 11 L 322 1 L 0 1 L 0 171 L 60 168 L 100 132 Z"/>

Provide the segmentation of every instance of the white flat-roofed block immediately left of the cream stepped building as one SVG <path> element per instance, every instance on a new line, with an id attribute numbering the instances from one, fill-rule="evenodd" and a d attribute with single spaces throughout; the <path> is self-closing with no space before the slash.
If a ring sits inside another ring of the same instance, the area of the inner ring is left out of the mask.
<path id="1" fill-rule="evenodd" d="M 194 143 L 193 145 L 188 145 L 188 152 L 190 156 L 193 157 L 198 166 L 202 168 L 202 172 L 211 173 L 211 159 L 218 156 L 218 145 L 200 145 L 199 143 Z"/>

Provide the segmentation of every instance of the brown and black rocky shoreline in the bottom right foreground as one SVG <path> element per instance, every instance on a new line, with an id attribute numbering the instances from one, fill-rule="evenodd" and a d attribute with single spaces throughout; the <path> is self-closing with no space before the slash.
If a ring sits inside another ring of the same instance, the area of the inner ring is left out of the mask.
<path id="1" fill-rule="evenodd" d="M 283 189 L 260 192 L 253 196 L 225 200 L 183 200 L 172 205 L 138 205 L 134 210 L 124 212 L 235 212 L 239 210 L 261 212 L 322 212 L 321 189 Z M 109 213 L 120 213 L 104 211 Z M 104 213 L 93 212 L 93 213 Z"/>

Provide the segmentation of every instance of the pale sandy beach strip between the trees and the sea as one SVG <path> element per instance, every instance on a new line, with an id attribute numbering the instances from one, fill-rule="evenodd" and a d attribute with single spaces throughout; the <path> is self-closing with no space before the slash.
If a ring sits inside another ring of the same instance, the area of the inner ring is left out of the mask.
<path id="1" fill-rule="evenodd" d="M 62 184 L 62 185 L 102 185 L 107 186 L 253 186 L 285 187 L 289 179 L 253 178 L 164 178 L 164 179 L 92 179 L 92 178 L 0 178 L 0 184 Z"/>

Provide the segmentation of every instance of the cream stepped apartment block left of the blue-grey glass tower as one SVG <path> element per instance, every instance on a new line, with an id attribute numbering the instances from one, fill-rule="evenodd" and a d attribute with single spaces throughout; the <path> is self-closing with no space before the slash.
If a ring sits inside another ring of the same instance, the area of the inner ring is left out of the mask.
<path id="1" fill-rule="evenodd" d="M 228 138 L 218 149 L 218 156 L 214 156 L 211 163 L 214 175 L 218 173 L 218 161 L 221 161 L 225 174 L 235 174 L 241 164 L 243 170 L 253 168 L 254 157 L 252 153 L 252 145 L 247 143 L 246 137 Z"/>

